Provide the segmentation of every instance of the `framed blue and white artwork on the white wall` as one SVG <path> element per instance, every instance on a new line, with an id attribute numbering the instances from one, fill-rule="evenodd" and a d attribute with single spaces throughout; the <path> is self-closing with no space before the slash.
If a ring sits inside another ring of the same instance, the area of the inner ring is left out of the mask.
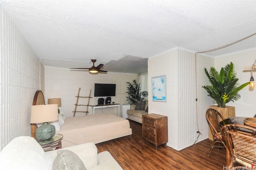
<path id="1" fill-rule="evenodd" d="M 166 102 L 165 75 L 152 77 L 152 100 Z"/>

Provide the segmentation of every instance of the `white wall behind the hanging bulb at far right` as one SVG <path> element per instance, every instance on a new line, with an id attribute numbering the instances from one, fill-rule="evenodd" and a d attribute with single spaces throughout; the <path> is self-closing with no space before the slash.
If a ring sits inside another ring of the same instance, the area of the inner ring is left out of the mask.
<path id="1" fill-rule="evenodd" d="M 236 77 L 239 78 L 238 83 L 241 85 L 250 81 L 250 70 L 244 70 L 243 68 L 252 66 L 256 60 L 255 54 L 256 48 L 221 56 L 215 59 L 215 67 L 219 71 L 221 67 L 232 62 L 236 71 Z M 254 70 L 253 75 L 254 80 L 256 80 L 256 70 Z M 227 105 L 236 107 L 236 116 L 253 117 L 256 114 L 256 88 L 250 91 L 249 86 L 247 86 L 242 89 L 239 94 L 241 95 L 239 100 L 234 103 L 229 102 Z"/>

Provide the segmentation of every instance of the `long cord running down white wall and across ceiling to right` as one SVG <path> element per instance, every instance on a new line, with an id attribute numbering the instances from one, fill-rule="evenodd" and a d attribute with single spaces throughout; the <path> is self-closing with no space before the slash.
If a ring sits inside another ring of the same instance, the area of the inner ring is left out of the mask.
<path id="1" fill-rule="evenodd" d="M 223 48 L 225 48 L 225 47 L 228 47 L 228 46 L 230 46 L 230 45 L 233 45 L 233 44 L 236 44 L 236 43 L 238 43 L 238 42 L 240 42 L 240 41 L 243 41 L 243 40 L 245 40 L 245 39 L 248 39 L 248 38 L 250 38 L 250 37 L 252 37 L 252 36 L 254 36 L 254 35 L 256 35 L 256 33 L 253 33 L 252 35 L 249 35 L 249 36 L 247 36 L 247 37 L 244 37 L 244 38 L 242 38 L 242 39 L 239 39 L 239 40 L 237 40 L 237 41 L 234 41 L 233 43 L 230 43 L 230 44 L 227 44 L 227 45 L 224 45 L 224 46 L 215 48 L 215 49 L 210 49 L 210 50 L 207 50 L 207 51 L 201 51 L 201 52 L 198 52 L 198 53 L 207 53 L 207 52 L 211 52 L 211 51 L 216 51 L 216 50 L 219 50 L 219 49 L 223 49 Z M 198 129 L 199 134 L 202 135 L 202 133 L 201 133 L 200 130 L 199 130 L 199 125 L 198 125 L 198 105 L 197 105 L 197 102 L 198 102 L 198 92 L 197 92 L 197 60 L 196 60 L 196 54 L 198 54 L 198 53 L 195 53 L 196 126 L 197 126 L 197 129 Z M 198 137 L 199 137 L 199 135 L 198 135 Z M 198 141 L 198 137 L 197 137 L 196 141 Z M 196 141 L 195 141 L 195 143 L 196 143 Z M 194 144 L 195 144 L 195 143 L 194 143 Z M 193 145 L 194 145 L 194 144 L 193 144 Z M 193 146 L 193 145 L 192 145 L 192 146 Z"/>

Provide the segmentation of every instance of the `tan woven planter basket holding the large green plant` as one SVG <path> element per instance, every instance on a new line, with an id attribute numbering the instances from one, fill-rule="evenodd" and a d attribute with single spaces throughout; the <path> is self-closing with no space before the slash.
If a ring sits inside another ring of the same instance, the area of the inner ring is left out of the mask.
<path id="1" fill-rule="evenodd" d="M 222 114 L 222 116 L 225 119 L 236 116 L 236 109 L 235 109 L 234 106 L 226 106 L 225 108 L 218 107 L 218 106 L 210 106 L 210 108 L 211 109 L 215 109 L 218 112 L 220 112 L 220 114 Z M 213 141 L 213 139 L 212 139 L 212 131 L 211 131 L 210 127 L 209 127 L 209 139 L 211 141 Z"/>

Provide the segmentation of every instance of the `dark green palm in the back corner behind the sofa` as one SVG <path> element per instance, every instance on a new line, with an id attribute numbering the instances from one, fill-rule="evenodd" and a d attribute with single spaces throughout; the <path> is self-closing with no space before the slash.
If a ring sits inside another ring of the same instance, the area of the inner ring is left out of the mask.
<path id="1" fill-rule="evenodd" d="M 137 100 L 143 100 L 148 96 L 147 91 L 141 91 L 140 84 L 136 80 L 132 80 L 132 83 L 126 83 L 128 83 L 126 100 L 129 104 L 136 104 Z"/>

